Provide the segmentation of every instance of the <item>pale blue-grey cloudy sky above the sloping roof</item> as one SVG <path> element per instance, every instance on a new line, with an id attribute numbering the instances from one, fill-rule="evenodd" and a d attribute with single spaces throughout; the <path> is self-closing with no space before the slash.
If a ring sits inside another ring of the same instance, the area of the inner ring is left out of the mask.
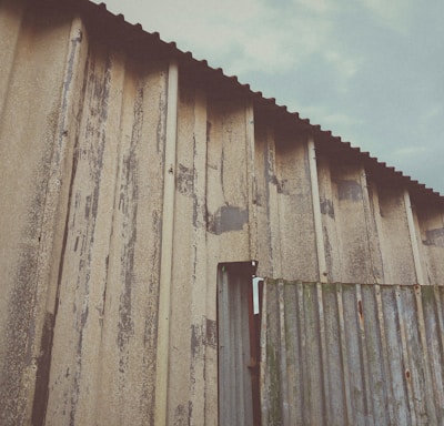
<path id="1" fill-rule="evenodd" d="M 444 194 L 444 0 L 105 3 Z"/>

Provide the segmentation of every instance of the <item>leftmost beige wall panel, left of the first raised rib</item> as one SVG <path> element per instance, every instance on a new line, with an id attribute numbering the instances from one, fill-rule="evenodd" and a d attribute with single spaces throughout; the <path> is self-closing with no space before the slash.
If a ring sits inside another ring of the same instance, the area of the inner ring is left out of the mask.
<path id="1" fill-rule="evenodd" d="M 47 347 L 41 345 L 51 333 L 47 295 L 60 257 L 51 253 L 64 202 L 60 168 L 70 156 L 67 145 L 72 141 L 65 133 L 70 118 L 60 108 L 68 93 L 64 89 L 73 82 L 67 64 L 67 55 L 75 50 L 69 50 L 71 17 L 43 10 L 46 17 L 36 16 L 36 7 L 22 2 L 12 8 L 6 2 L 0 9 L 1 39 L 8 45 L 2 49 L 0 78 L 0 240 L 4 251 L 0 260 L 0 423 L 4 425 L 29 422 L 36 381 L 47 374 L 41 366 Z"/>

